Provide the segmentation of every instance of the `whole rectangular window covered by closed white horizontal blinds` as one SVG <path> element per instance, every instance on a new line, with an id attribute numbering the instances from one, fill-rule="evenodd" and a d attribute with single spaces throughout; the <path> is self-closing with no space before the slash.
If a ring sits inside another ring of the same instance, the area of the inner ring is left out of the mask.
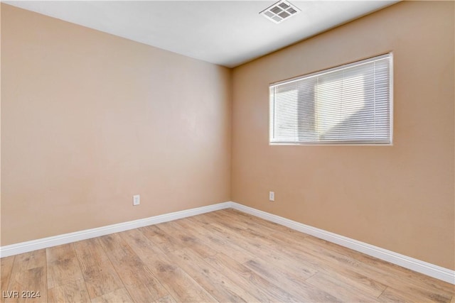
<path id="1" fill-rule="evenodd" d="M 392 53 L 270 85 L 271 144 L 392 144 Z"/>

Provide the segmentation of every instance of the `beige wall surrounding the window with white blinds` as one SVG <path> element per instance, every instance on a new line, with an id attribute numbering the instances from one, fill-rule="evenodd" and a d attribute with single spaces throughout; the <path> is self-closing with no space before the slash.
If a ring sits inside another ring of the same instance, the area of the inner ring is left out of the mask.
<path id="1" fill-rule="evenodd" d="M 269 83 L 389 51 L 393 146 L 268 145 Z M 390 6 L 232 77 L 232 201 L 455 268 L 453 1 Z"/>

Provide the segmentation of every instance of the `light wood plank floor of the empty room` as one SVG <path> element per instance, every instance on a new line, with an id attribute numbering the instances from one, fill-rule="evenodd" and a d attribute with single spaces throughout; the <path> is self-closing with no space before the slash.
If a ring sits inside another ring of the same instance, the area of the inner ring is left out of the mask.
<path id="1" fill-rule="evenodd" d="M 41 297 L 22 298 L 33 292 Z M 233 209 L 1 258 L 1 294 L 1 302 L 455 302 L 454 285 Z"/>

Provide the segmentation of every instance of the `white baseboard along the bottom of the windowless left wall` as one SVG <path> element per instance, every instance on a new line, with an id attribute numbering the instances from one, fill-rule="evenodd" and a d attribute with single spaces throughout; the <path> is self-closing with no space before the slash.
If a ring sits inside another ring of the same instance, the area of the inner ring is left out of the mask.
<path id="1" fill-rule="evenodd" d="M 26 241 L 9 246 L 0 247 L 0 258 L 8 257 L 9 255 L 18 255 L 19 253 L 28 253 L 32 250 L 58 246 L 66 243 L 86 240 L 99 236 L 105 236 L 110 233 L 118 233 L 120 231 L 127 231 L 129 229 L 138 228 L 142 226 L 159 224 L 167 221 L 186 218 L 188 216 L 196 216 L 198 214 L 205 214 L 210 211 L 217 211 L 220 209 L 227 209 L 232 206 L 231 202 L 223 202 L 212 204 L 208 206 L 198 207 L 196 209 L 186 209 L 183 211 L 176 211 L 169 214 L 161 214 L 159 216 L 151 216 L 145 219 L 138 219 L 134 221 L 127 221 L 119 224 L 112 224 L 98 228 L 90 228 L 84 231 L 75 231 L 74 233 L 64 233 L 63 235 L 41 238 L 32 241 Z"/>

